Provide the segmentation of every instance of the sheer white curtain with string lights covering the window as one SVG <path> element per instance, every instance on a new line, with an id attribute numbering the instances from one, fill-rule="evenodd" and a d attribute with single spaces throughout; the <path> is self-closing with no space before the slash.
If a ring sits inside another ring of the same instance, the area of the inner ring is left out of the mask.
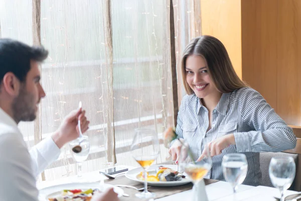
<path id="1" fill-rule="evenodd" d="M 129 152 L 134 129 L 152 128 L 162 138 L 166 127 L 174 125 L 171 55 L 176 54 L 179 61 L 181 48 L 188 42 L 190 25 L 187 28 L 180 21 L 191 19 L 191 5 L 174 0 L 174 41 L 170 38 L 169 0 L 40 3 L 41 43 L 50 52 L 41 68 L 47 95 L 39 121 L 20 124 L 28 146 L 55 131 L 81 100 L 91 121 L 86 133 L 91 150 L 83 172 L 103 168 L 115 157 L 118 165 L 137 166 Z M 32 8 L 32 0 L 3 0 L 0 36 L 33 44 Z M 174 53 L 171 43 L 176 46 Z M 179 90 L 181 83 L 178 79 Z M 157 162 L 167 156 L 162 146 Z M 40 180 L 74 174 L 75 164 L 65 146 Z"/>

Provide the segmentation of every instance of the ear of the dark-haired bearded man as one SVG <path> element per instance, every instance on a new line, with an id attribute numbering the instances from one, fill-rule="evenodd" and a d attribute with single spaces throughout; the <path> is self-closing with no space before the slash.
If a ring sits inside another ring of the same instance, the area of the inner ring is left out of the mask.
<path id="1" fill-rule="evenodd" d="M 8 72 L 3 77 L 3 89 L 12 96 L 19 95 L 19 90 L 21 86 L 20 80 L 12 72 Z"/>

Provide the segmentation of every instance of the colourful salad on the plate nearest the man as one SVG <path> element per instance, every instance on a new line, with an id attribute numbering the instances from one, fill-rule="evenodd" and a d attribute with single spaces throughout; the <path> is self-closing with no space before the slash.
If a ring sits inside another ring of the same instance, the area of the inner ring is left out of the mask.
<path id="1" fill-rule="evenodd" d="M 49 201 L 89 201 L 92 195 L 99 191 L 99 189 L 71 189 L 62 190 L 61 194 L 56 197 L 48 198 Z"/>

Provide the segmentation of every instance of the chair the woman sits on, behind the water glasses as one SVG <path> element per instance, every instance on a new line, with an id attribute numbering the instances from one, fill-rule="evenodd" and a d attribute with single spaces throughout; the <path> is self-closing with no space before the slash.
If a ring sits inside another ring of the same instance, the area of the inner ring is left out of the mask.
<path id="1" fill-rule="evenodd" d="M 273 187 L 269 174 L 268 166 L 272 157 L 291 156 L 296 163 L 296 175 L 289 187 L 290 190 L 301 191 L 301 127 L 290 126 L 294 135 L 297 137 L 297 144 L 294 149 L 285 150 L 283 152 L 266 152 L 260 153 L 260 170 L 262 172 L 262 185 Z"/>

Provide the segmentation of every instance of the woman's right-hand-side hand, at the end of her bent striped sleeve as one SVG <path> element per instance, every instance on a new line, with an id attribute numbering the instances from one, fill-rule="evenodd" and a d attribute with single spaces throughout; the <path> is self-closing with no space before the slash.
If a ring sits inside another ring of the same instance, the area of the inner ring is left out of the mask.
<path id="1" fill-rule="evenodd" d="M 208 144 L 208 149 L 210 156 L 219 155 L 222 151 L 229 147 L 230 145 L 235 145 L 234 134 L 225 135 L 219 139 L 216 139 Z M 202 160 L 206 156 L 206 151 L 203 151 L 202 155 L 198 158 L 197 161 Z"/>

